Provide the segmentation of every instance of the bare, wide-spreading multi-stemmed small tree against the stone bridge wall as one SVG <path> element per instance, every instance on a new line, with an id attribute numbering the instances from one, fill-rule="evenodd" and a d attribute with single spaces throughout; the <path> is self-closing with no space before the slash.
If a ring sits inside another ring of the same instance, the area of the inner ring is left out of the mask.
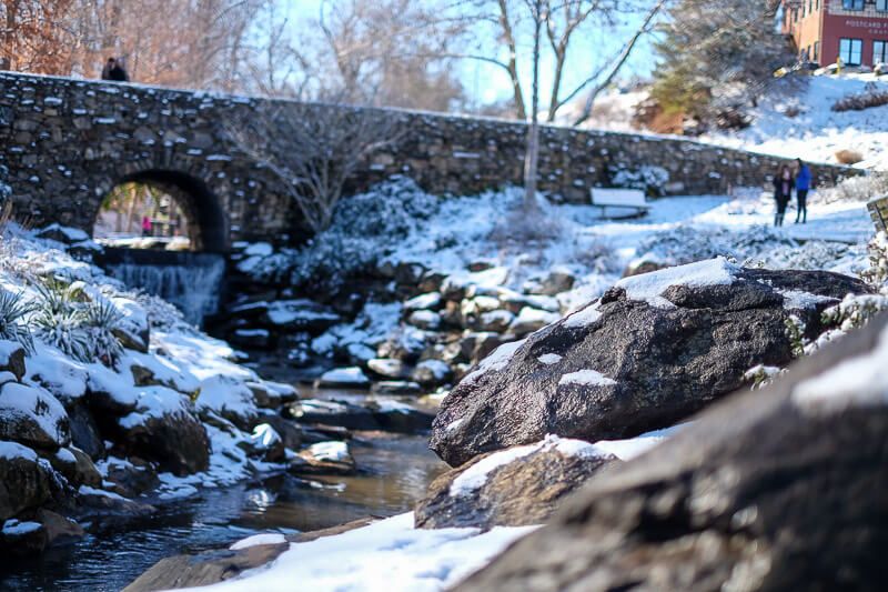
<path id="1" fill-rule="evenodd" d="M 239 150 L 283 181 L 309 227 L 320 232 L 330 225 L 346 182 L 403 130 L 383 110 L 290 103 L 251 112 L 228 132 Z"/>

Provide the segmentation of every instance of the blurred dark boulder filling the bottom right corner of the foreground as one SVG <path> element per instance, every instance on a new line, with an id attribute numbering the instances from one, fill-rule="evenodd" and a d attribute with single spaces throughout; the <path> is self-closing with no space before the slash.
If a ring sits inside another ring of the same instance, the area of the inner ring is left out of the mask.
<path id="1" fill-rule="evenodd" d="M 882 590 L 888 315 L 605 469 L 461 591 Z"/>

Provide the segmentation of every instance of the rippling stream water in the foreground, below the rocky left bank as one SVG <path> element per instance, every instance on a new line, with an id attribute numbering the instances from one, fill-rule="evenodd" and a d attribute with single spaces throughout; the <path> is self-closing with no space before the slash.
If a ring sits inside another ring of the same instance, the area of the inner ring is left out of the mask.
<path id="1" fill-rule="evenodd" d="M 317 530 L 366 515 L 412 510 L 446 466 L 425 437 L 356 434 L 354 476 L 266 476 L 161 508 L 125 528 L 93 525 L 89 536 L 36 560 L 3 564 L 3 591 L 117 591 L 159 560 L 226 546 L 256 532 Z"/>

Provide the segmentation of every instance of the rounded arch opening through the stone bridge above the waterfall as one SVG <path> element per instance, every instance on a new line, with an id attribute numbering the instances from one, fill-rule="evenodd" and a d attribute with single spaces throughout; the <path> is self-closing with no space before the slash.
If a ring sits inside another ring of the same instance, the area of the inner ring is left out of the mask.
<path id="1" fill-rule="evenodd" d="M 93 220 L 93 238 L 112 247 L 208 253 L 225 253 L 230 247 L 221 200 L 202 180 L 175 170 L 121 177 Z"/>

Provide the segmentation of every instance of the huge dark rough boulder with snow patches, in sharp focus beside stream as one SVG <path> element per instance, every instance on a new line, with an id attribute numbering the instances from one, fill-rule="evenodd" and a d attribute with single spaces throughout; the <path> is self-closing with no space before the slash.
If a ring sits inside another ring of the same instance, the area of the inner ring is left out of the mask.
<path id="1" fill-rule="evenodd" d="M 599 301 L 497 349 L 451 391 L 431 446 L 451 465 L 548 433 L 595 442 L 673 425 L 794 359 L 852 278 L 747 270 L 724 259 L 620 280 Z"/>

